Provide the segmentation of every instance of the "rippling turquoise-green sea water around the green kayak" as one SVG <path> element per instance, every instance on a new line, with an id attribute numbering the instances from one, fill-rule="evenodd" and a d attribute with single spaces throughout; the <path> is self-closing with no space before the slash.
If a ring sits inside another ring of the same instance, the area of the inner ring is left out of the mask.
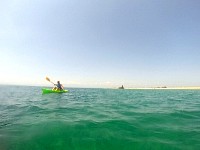
<path id="1" fill-rule="evenodd" d="M 200 147 L 200 90 L 0 86 L 0 150 Z"/>

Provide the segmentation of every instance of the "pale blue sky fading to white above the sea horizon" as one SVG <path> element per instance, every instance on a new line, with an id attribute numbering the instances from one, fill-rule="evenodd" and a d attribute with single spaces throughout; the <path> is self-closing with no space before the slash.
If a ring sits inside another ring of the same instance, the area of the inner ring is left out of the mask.
<path id="1" fill-rule="evenodd" d="M 0 84 L 200 86 L 199 0 L 1 0 Z"/>

